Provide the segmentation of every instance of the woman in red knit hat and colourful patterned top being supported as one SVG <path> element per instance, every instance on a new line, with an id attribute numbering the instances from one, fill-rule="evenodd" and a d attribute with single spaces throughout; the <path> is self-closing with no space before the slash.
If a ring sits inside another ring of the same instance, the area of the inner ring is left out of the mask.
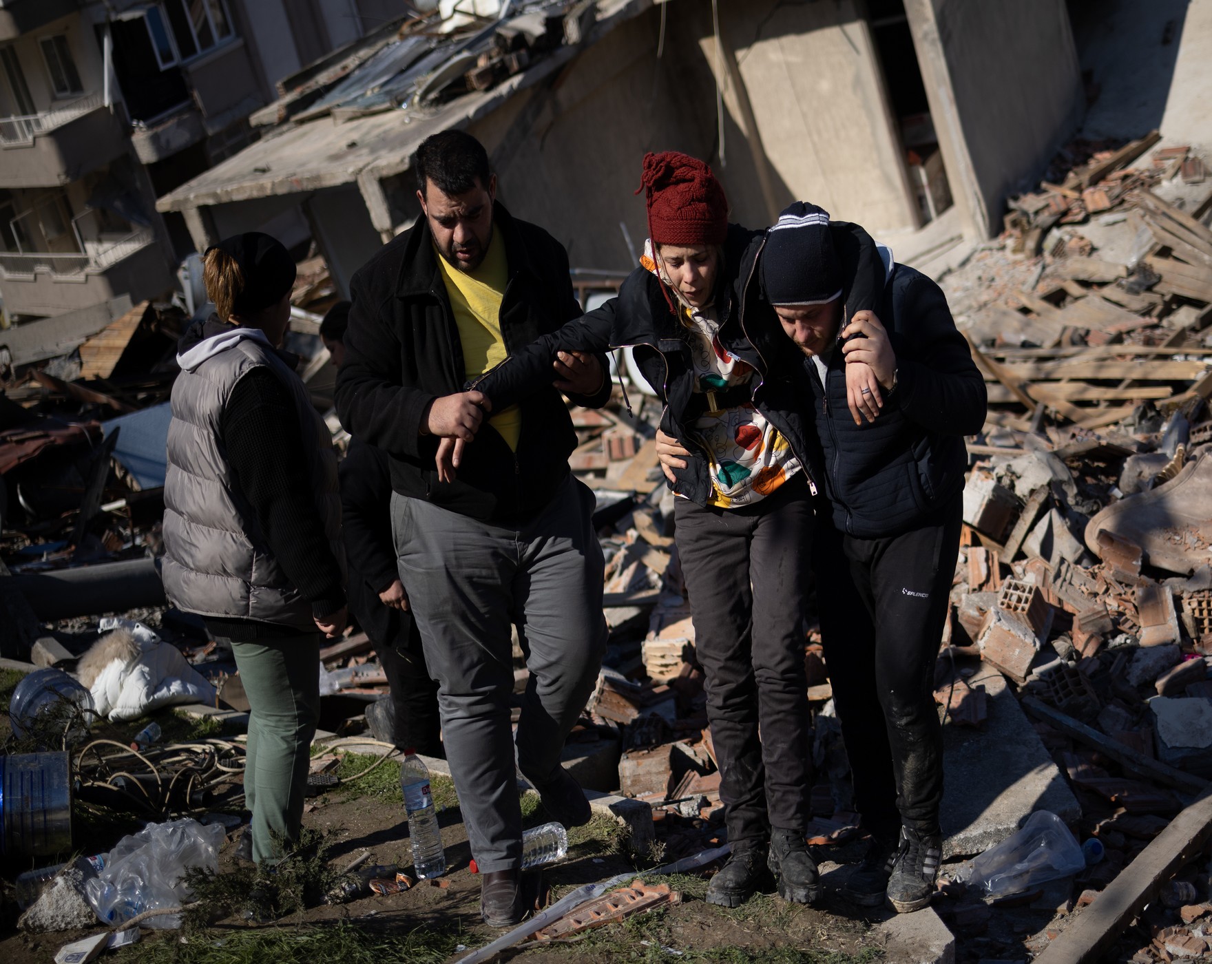
<path id="1" fill-rule="evenodd" d="M 765 232 L 728 223 L 711 169 L 678 152 L 648 154 L 640 189 L 648 240 L 618 297 L 469 387 L 497 411 L 549 384 L 561 352 L 633 347 L 665 404 L 662 430 L 692 452 L 685 468 L 665 474 L 679 496 L 675 538 L 732 844 L 707 899 L 737 907 L 773 872 L 785 900 L 808 903 L 819 883 L 805 845 L 811 747 L 801 611 L 816 485 L 811 421 L 800 415 L 793 371 L 800 359 L 785 344 L 754 340 L 779 331 L 772 320 L 753 324 L 772 310 L 758 292 Z M 884 284 L 874 243 L 857 226 L 834 230 L 847 235 L 844 250 L 857 252 L 846 276 L 858 276 L 853 286 L 874 300 Z M 457 447 L 439 452 L 440 478 L 457 464 L 457 456 L 446 461 Z"/>

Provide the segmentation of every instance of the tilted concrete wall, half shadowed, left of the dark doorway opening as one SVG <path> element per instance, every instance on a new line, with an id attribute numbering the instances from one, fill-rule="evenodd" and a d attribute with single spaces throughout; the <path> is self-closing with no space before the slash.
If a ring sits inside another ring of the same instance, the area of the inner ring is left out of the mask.
<path id="1" fill-rule="evenodd" d="M 732 219 L 744 224 L 768 224 L 796 199 L 871 230 L 915 224 L 870 38 L 851 1 L 756 0 L 721 12 L 745 87 L 738 91 L 728 72 L 721 74 L 730 84 L 724 162 L 705 4 L 669 7 L 659 59 L 654 8 L 469 129 L 488 148 L 504 204 L 550 230 L 573 266 L 628 270 L 634 263 L 619 222 L 642 246 L 644 201 L 634 192 L 648 150 L 707 160 L 724 183 Z M 755 119 L 756 156 L 742 93 Z"/>

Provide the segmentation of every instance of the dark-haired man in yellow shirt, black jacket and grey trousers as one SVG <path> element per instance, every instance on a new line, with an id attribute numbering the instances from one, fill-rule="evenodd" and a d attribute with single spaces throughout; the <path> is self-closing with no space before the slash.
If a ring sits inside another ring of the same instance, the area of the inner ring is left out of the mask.
<path id="1" fill-rule="evenodd" d="M 604 560 L 593 494 L 568 472 L 576 434 L 556 387 L 599 406 L 610 384 L 605 358 L 567 356 L 555 387 L 485 418 L 487 400 L 464 382 L 581 314 L 568 256 L 496 203 L 496 176 L 470 135 L 427 138 L 415 170 L 424 217 L 351 283 L 337 411 L 390 457 L 399 570 L 439 681 L 481 913 L 508 926 L 524 915 L 511 623 L 530 668 L 518 766 L 553 818 L 590 817 L 560 751 L 605 651 Z M 476 438 L 453 481 L 434 467 L 444 435 Z"/>

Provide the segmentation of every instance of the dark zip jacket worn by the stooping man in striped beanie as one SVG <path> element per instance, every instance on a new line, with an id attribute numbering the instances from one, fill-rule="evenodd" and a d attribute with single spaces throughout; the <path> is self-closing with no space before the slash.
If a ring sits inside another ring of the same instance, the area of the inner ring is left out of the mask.
<path id="1" fill-rule="evenodd" d="M 816 477 L 824 480 L 834 525 L 861 538 L 899 535 L 937 517 L 964 487 L 964 435 L 981 432 L 987 401 L 968 343 L 930 278 L 892 266 L 875 314 L 896 352 L 897 386 L 873 424 L 856 426 L 851 417 L 840 344 L 824 383 L 816 363 L 802 359 L 821 441 Z"/>

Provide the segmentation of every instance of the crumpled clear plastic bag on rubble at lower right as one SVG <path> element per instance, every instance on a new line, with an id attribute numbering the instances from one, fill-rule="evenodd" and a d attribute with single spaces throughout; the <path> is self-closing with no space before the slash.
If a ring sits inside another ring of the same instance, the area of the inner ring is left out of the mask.
<path id="1" fill-rule="evenodd" d="M 987 897 L 1006 897 L 1085 868 L 1081 845 L 1060 817 L 1039 810 L 1022 829 L 973 860 L 966 883 Z"/>

